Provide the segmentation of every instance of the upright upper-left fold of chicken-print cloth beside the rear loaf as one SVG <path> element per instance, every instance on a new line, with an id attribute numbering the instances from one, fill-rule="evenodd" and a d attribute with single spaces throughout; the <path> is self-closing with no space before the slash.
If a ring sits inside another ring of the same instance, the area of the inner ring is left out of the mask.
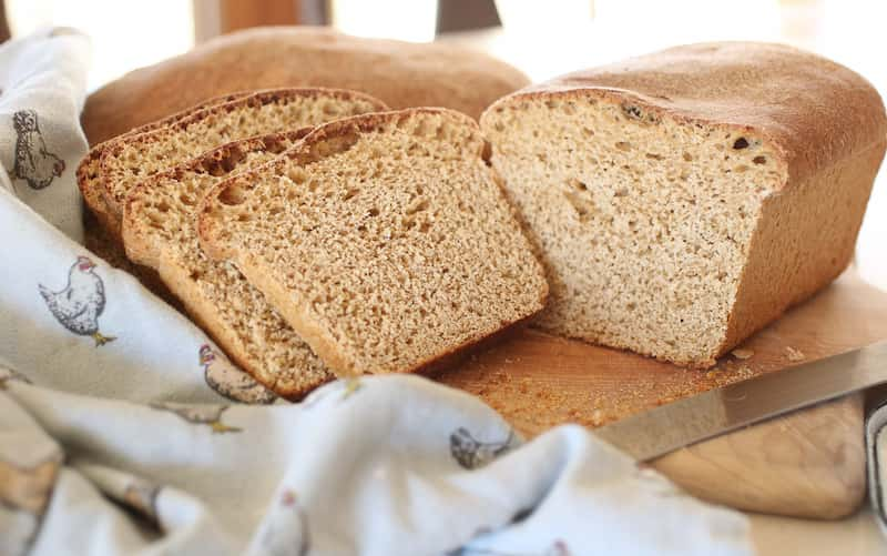
<path id="1" fill-rule="evenodd" d="M 65 28 L 0 47 L 0 163 L 10 171 L 0 184 L 75 241 L 83 237 L 74 171 L 86 152 L 80 112 L 89 57 L 86 37 Z"/>

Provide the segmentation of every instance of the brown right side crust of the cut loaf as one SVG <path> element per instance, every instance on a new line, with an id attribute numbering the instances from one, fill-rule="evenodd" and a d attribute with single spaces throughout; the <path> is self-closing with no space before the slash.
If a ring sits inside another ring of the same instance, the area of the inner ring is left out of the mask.
<path id="1" fill-rule="evenodd" d="M 881 140 L 764 200 L 718 356 L 844 272 L 886 148 Z"/>

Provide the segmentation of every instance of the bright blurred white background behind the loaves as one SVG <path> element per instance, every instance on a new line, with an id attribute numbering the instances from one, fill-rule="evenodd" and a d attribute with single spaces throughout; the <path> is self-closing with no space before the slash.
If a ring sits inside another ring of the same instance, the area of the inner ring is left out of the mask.
<path id="1" fill-rule="evenodd" d="M 266 24 L 330 24 L 363 37 L 448 41 L 497 55 L 534 81 L 661 48 L 777 41 L 861 73 L 887 93 L 887 2 L 879 0 L 6 0 L 0 32 L 70 26 L 93 39 L 90 88 L 215 36 Z M 887 289 L 887 176 L 857 246 Z"/>

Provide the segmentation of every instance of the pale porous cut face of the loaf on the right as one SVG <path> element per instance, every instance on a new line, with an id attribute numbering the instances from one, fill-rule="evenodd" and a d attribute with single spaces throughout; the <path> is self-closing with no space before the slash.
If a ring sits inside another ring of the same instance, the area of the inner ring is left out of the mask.
<path id="1" fill-rule="evenodd" d="M 713 358 L 761 200 L 782 179 L 768 145 L 603 98 L 527 100 L 485 123 L 548 267 L 537 324 L 676 362 Z"/>

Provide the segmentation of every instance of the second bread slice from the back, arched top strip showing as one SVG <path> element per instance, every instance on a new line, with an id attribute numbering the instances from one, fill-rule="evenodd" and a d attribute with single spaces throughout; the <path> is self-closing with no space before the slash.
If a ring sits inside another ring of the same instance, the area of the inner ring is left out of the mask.
<path id="1" fill-rule="evenodd" d="M 120 231 L 132 186 L 157 172 L 231 141 L 283 132 L 365 112 L 385 110 L 367 94 L 334 89 L 259 91 L 211 107 L 161 129 L 114 140 L 100 159 L 108 224 Z"/>

